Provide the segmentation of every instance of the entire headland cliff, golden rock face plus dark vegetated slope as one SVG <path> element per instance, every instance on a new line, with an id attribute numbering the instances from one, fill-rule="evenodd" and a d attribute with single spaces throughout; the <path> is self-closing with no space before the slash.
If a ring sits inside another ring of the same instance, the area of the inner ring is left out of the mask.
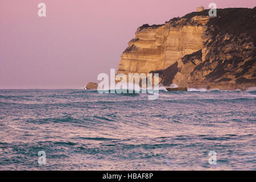
<path id="1" fill-rule="evenodd" d="M 164 86 L 256 86 L 256 7 L 217 9 L 216 17 L 209 17 L 208 11 L 139 27 L 117 73 L 159 73 Z"/>

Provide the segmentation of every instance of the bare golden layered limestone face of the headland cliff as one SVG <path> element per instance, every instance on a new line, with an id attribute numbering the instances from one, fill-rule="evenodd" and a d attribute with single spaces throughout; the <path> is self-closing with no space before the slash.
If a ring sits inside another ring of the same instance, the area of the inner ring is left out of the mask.
<path id="1" fill-rule="evenodd" d="M 204 24 L 207 16 L 174 19 L 159 26 L 144 24 L 137 29 L 135 38 L 123 52 L 118 73 L 149 73 L 166 69 L 177 59 L 203 46 L 206 37 Z"/>

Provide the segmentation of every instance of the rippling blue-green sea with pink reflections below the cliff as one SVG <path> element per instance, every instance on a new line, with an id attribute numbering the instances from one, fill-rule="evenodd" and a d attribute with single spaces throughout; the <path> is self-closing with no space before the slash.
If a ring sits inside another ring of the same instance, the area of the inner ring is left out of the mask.
<path id="1" fill-rule="evenodd" d="M 0 90 L 0 169 L 256 170 L 255 104 L 255 91 L 160 90 L 148 100 L 96 90 Z"/>

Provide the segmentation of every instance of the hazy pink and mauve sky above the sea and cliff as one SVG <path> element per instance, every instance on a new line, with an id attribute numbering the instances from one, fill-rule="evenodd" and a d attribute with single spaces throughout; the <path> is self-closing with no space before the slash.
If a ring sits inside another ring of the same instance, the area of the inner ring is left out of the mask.
<path id="1" fill-rule="evenodd" d="M 117 70 L 142 24 L 163 24 L 203 5 L 256 6 L 255 0 L 1 0 L 0 89 L 79 89 Z M 46 17 L 38 4 L 46 4 Z"/>

